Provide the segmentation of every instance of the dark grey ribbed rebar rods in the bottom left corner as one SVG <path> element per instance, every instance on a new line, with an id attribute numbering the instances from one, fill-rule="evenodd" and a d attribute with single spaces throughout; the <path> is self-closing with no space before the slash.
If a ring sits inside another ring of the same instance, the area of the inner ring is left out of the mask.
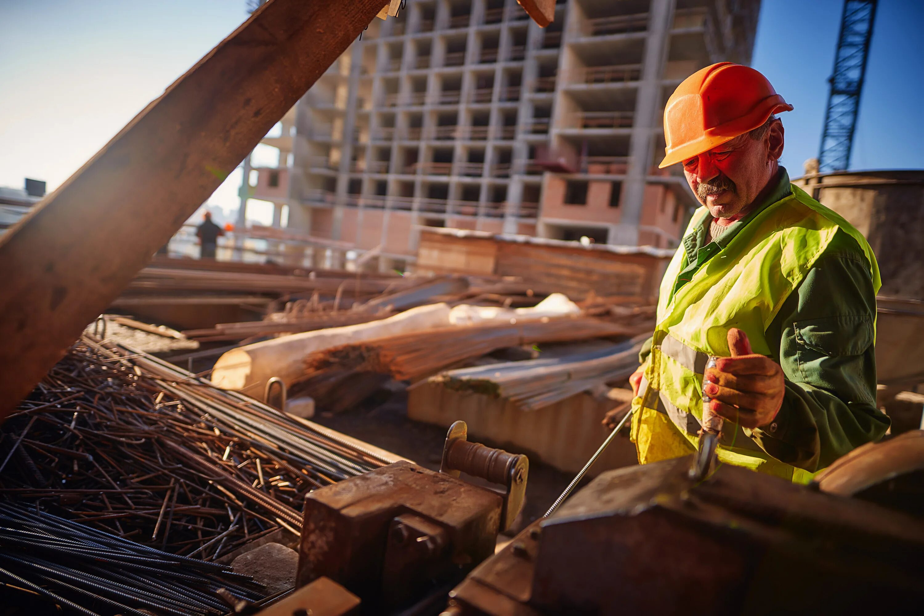
<path id="1" fill-rule="evenodd" d="M 234 601 L 262 597 L 260 586 L 226 565 L 175 556 L 5 502 L 0 502 L 0 582 L 5 608 L 18 591 L 86 616 L 224 614 L 229 606 L 221 588 Z"/>

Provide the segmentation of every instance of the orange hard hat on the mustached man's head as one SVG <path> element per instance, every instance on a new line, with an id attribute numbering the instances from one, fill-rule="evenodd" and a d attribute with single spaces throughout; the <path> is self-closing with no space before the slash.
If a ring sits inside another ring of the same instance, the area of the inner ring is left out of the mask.
<path id="1" fill-rule="evenodd" d="M 770 81 L 750 66 L 720 62 L 693 73 L 664 107 L 664 160 L 659 169 L 710 151 L 792 111 Z"/>

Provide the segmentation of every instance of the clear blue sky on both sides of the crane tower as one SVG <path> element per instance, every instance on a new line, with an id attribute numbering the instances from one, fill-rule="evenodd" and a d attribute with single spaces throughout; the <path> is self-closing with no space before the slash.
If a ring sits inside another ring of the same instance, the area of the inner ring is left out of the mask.
<path id="1" fill-rule="evenodd" d="M 842 0 L 764 0 L 751 66 L 787 103 L 783 163 L 817 157 Z M 924 169 L 924 2 L 880 0 L 860 99 L 852 169 Z"/>

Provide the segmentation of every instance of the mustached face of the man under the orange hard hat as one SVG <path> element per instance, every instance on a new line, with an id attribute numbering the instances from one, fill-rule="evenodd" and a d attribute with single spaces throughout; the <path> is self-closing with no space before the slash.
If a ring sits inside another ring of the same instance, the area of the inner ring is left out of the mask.
<path id="1" fill-rule="evenodd" d="M 763 139 L 748 134 L 683 162 L 687 184 L 715 218 L 732 218 L 760 195 L 783 153 L 783 125 L 773 122 Z"/>

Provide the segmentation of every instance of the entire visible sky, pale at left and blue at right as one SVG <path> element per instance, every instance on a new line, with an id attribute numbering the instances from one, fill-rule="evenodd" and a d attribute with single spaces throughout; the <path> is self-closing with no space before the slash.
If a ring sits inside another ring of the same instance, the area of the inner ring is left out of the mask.
<path id="1" fill-rule="evenodd" d="M 246 17 L 245 0 L 0 0 L 0 186 L 55 188 Z M 795 105 L 784 164 L 818 155 L 841 0 L 764 0 L 753 66 Z M 852 168 L 924 168 L 924 2 L 881 0 Z M 237 206 L 239 172 L 212 202 Z M 258 208 L 259 210 L 259 208 Z"/>

